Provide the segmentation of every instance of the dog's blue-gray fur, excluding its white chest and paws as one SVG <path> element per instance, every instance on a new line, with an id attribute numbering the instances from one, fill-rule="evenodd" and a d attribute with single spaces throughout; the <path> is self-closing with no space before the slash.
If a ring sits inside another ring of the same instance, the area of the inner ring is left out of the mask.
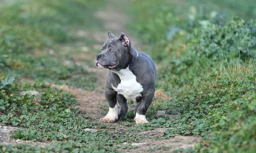
<path id="1" fill-rule="evenodd" d="M 117 87 L 121 80 L 115 71 L 121 71 L 129 66 L 129 70 L 136 76 L 136 81 L 142 86 L 141 96 L 136 97 L 137 106 L 134 110 L 140 115 L 145 115 L 154 98 L 156 68 L 150 56 L 137 52 L 131 46 L 128 36 L 121 33 L 119 38 L 108 32 L 109 40 L 102 46 L 102 53 L 96 56 L 96 65 L 110 69 L 105 82 L 105 97 L 108 105 L 114 108 L 119 102 L 118 119 L 125 118 L 128 111 L 127 100 L 124 95 L 118 94 L 113 87 Z M 111 50 L 113 49 L 113 51 Z M 114 68 L 110 68 L 114 66 Z"/>

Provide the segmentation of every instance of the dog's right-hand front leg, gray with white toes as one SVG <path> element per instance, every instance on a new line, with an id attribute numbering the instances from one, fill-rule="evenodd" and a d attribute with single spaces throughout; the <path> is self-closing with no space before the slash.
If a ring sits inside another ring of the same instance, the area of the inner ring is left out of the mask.
<path id="1" fill-rule="evenodd" d="M 153 101 L 153 98 L 154 91 L 142 95 L 140 102 L 137 103 L 134 109 L 134 121 L 136 124 L 148 123 L 148 120 L 146 119 L 146 112 Z"/>

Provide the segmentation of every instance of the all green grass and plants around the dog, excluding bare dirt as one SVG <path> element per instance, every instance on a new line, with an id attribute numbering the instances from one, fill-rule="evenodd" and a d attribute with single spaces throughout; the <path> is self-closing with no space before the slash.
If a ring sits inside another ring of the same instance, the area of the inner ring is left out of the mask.
<path id="1" fill-rule="evenodd" d="M 44 83 L 85 90 L 97 87 L 95 75 L 76 65 L 93 65 L 90 58 L 73 57 L 81 54 L 83 42 L 92 54 L 95 42 L 74 33 L 103 29 L 99 20 L 91 18 L 103 4 L 17 0 L 0 6 L 0 124 L 20 127 L 12 133 L 14 139 L 51 142 L 45 147 L 0 146 L 2 152 L 116 152 L 137 148 L 124 142 L 165 140 L 177 134 L 201 136 L 202 140 L 174 153 L 255 152 L 256 21 L 250 20 L 256 15 L 254 1 L 236 0 L 236 5 L 231 0 L 113 4 L 130 17 L 129 31 L 148 45 L 147 53 L 160 67 L 156 87 L 166 94 L 155 97 L 150 106 L 150 123 L 135 125 L 133 111 L 128 111 L 125 120 L 118 122 L 126 130 L 93 122 L 75 107 L 79 102 L 74 95 Z M 35 83 L 20 81 L 23 78 Z M 26 90 L 42 93 L 43 99 L 18 95 Z M 157 111 L 165 111 L 167 116 L 157 116 Z M 159 138 L 138 133 L 158 127 L 168 128 Z"/>

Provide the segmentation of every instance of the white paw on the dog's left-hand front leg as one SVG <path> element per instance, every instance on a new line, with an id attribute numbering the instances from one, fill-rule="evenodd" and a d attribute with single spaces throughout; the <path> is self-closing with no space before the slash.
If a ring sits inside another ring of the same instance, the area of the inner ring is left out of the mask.
<path id="1" fill-rule="evenodd" d="M 119 107 L 118 105 L 115 105 L 114 108 L 109 108 L 109 111 L 105 117 L 102 117 L 99 119 L 99 121 L 104 122 L 104 123 L 113 123 L 116 121 L 118 118 L 118 110 Z"/>

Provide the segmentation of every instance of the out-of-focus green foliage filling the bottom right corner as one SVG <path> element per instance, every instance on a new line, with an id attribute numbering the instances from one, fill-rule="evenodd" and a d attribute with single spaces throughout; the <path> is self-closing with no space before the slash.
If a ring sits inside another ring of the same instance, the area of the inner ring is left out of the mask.
<path id="1" fill-rule="evenodd" d="M 207 131 L 205 142 L 196 147 L 198 152 L 249 152 L 256 149 L 255 86 L 253 88 L 243 98 L 225 105 L 224 112 L 216 112 L 210 117 L 214 133 Z"/>

